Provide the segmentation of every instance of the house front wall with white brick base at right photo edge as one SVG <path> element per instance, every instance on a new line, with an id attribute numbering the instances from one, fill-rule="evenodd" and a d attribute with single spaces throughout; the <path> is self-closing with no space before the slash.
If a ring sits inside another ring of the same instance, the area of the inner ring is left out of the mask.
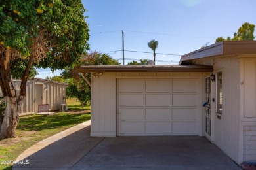
<path id="1" fill-rule="evenodd" d="M 256 58 L 240 59 L 239 162 L 256 160 Z"/>

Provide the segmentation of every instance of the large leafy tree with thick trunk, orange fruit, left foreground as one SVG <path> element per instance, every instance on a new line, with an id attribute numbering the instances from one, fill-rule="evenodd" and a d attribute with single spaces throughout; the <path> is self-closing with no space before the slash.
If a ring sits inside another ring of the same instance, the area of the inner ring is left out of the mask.
<path id="1" fill-rule="evenodd" d="M 33 66 L 52 71 L 71 67 L 89 49 L 81 0 L 9 0 L 0 3 L 0 86 L 5 99 L 0 138 L 16 137 L 18 107 L 26 97 Z M 16 67 L 16 63 L 22 67 Z M 17 69 L 20 69 L 20 74 Z M 20 92 L 11 75 L 21 78 Z"/>

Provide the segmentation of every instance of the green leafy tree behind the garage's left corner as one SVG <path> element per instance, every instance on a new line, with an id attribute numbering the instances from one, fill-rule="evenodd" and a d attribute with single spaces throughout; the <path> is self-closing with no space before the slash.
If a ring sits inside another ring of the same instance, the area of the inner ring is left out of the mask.
<path id="1" fill-rule="evenodd" d="M 77 61 L 74 67 L 67 67 L 60 74 L 66 82 L 69 83 L 68 88 L 66 88 L 66 95 L 68 98 L 75 97 L 81 103 L 82 106 L 89 105 L 91 101 L 91 88 L 85 82 L 85 80 L 77 73 L 77 69 L 81 65 L 119 65 L 120 63 L 108 56 L 107 54 L 101 54 L 100 52 L 90 52 L 89 54 L 83 56 L 79 61 Z M 91 80 L 91 74 L 87 73 L 85 77 Z"/>

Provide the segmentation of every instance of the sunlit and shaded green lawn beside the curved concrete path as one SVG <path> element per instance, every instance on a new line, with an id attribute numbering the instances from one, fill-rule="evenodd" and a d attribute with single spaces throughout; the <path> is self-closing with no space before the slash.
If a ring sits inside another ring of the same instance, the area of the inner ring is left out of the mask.
<path id="1" fill-rule="evenodd" d="M 79 106 L 75 99 L 69 99 L 67 103 L 69 112 L 20 117 L 17 137 L 0 141 L 0 169 L 12 169 L 12 162 L 33 144 L 91 119 L 90 107 Z"/>

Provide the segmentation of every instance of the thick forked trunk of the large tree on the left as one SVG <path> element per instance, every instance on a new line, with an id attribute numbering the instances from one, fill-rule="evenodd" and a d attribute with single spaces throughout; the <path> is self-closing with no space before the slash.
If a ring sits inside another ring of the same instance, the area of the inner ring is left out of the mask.
<path id="1" fill-rule="evenodd" d="M 17 94 L 11 79 L 12 61 L 11 50 L 7 49 L 0 56 L 0 87 L 6 103 L 5 114 L 0 116 L 0 139 L 16 137 L 15 129 L 19 121 L 18 107 L 26 97 L 28 73 L 33 64 L 31 57 L 21 78 L 20 93 Z"/>

